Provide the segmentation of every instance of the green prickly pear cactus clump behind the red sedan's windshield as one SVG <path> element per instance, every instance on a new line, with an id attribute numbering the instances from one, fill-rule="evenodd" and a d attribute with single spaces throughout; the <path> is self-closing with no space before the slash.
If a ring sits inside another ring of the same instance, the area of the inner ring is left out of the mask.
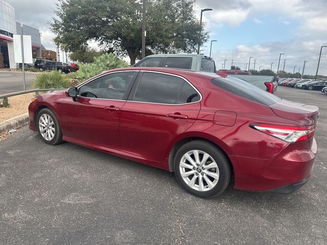
<path id="1" fill-rule="evenodd" d="M 119 59 L 112 53 L 105 53 L 94 57 L 93 63 L 81 64 L 79 70 L 75 72 L 75 78 L 81 83 L 102 71 L 121 67 L 128 67 L 126 61 Z"/>

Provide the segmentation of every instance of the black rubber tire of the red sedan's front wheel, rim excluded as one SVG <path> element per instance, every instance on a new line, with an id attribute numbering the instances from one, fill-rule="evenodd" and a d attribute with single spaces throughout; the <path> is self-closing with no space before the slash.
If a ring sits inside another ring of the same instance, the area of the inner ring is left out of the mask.
<path id="1" fill-rule="evenodd" d="M 53 136 L 53 138 L 51 140 L 45 139 L 45 137 L 40 132 L 39 121 L 40 121 L 40 117 L 42 115 L 49 115 L 51 117 L 51 119 L 53 120 L 55 133 L 54 133 L 54 136 Z M 62 142 L 62 132 L 61 132 L 61 129 L 60 129 L 58 119 L 57 119 L 56 115 L 53 113 L 53 111 L 51 109 L 49 109 L 49 108 L 44 108 L 44 109 L 40 110 L 39 113 L 37 114 L 37 117 L 36 117 L 36 130 L 39 132 L 42 140 L 47 144 L 55 145 L 55 144 L 60 144 Z"/>

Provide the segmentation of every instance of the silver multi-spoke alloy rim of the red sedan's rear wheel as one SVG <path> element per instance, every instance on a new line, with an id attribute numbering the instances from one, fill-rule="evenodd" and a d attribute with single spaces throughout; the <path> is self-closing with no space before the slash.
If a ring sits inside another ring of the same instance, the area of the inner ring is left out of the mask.
<path id="1" fill-rule="evenodd" d="M 185 153 L 179 163 L 183 181 L 197 191 L 214 188 L 219 180 L 219 169 L 215 160 L 207 153 L 193 150 Z"/>

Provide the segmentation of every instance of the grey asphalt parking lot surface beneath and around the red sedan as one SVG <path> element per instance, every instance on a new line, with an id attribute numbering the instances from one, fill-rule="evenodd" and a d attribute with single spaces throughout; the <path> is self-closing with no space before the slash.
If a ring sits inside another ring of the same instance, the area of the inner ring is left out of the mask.
<path id="1" fill-rule="evenodd" d="M 327 94 L 278 87 L 316 105 L 312 179 L 292 194 L 183 191 L 174 174 L 21 128 L 0 142 L 0 244 L 327 244 Z"/>

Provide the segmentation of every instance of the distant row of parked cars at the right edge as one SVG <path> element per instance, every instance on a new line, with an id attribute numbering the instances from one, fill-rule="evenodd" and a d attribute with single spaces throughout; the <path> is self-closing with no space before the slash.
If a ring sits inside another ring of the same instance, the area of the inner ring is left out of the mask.
<path id="1" fill-rule="evenodd" d="M 324 92 L 326 90 L 323 90 L 323 88 L 327 87 L 327 81 L 299 78 L 282 78 L 279 79 L 278 85 L 308 90 L 321 90 L 321 92 Z"/>

